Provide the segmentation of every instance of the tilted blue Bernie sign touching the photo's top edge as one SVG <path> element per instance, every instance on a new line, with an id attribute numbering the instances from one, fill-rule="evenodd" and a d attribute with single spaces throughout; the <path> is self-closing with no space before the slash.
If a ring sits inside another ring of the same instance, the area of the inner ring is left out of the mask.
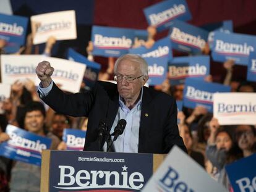
<path id="1" fill-rule="evenodd" d="M 148 25 L 153 25 L 158 31 L 169 29 L 173 19 L 190 20 L 191 14 L 185 0 L 162 1 L 143 9 Z"/>

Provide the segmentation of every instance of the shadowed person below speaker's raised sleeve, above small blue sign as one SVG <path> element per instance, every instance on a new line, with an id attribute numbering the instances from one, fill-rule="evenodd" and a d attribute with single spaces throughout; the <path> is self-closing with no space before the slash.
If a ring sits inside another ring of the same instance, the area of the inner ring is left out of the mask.
<path id="1" fill-rule="evenodd" d="M 71 128 L 71 122 L 67 115 L 56 112 L 51 122 L 51 132 L 62 140 L 64 128 Z"/>

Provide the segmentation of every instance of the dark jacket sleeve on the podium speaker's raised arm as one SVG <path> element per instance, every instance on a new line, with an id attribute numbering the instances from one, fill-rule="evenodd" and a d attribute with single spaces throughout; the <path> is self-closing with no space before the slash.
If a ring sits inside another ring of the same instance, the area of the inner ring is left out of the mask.
<path id="1" fill-rule="evenodd" d="M 53 83 L 52 90 L 41 99 L 56 112 L 73 117 L 88 117 L 94 98 L 93 91 L 67 94 Z"/>

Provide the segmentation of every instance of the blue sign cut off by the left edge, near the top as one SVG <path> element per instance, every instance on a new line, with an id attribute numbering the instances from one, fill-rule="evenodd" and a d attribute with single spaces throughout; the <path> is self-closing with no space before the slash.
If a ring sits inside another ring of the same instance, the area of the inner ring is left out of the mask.
<path id="1" fill-rule="evenodd" d="M 27 25 L 27 17 L 0 14 L 0 39 L 11 44 L 24 44 Z"/>

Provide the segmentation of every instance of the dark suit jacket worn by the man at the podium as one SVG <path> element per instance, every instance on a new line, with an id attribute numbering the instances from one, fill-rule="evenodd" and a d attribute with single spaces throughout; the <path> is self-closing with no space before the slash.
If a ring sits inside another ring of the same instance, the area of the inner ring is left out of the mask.
<path id="1" fill-rule="evenodd" d="M 86 151 L 99 151 L 99 122 L 106 119 L 110 131 L 119 107 L 117 86 L 104 81 L 97 81 L 93 90 L 88 93 L 75 94 L 65 94 L 53 84 L 53 89 L 42 99 L 54 111 L 74 117 L 88 117 Z M 168 94 L 144 86 L 138 151 L 168 153 L 174 144 L 186 151 L 177 128 L 175 100 Z"/>

